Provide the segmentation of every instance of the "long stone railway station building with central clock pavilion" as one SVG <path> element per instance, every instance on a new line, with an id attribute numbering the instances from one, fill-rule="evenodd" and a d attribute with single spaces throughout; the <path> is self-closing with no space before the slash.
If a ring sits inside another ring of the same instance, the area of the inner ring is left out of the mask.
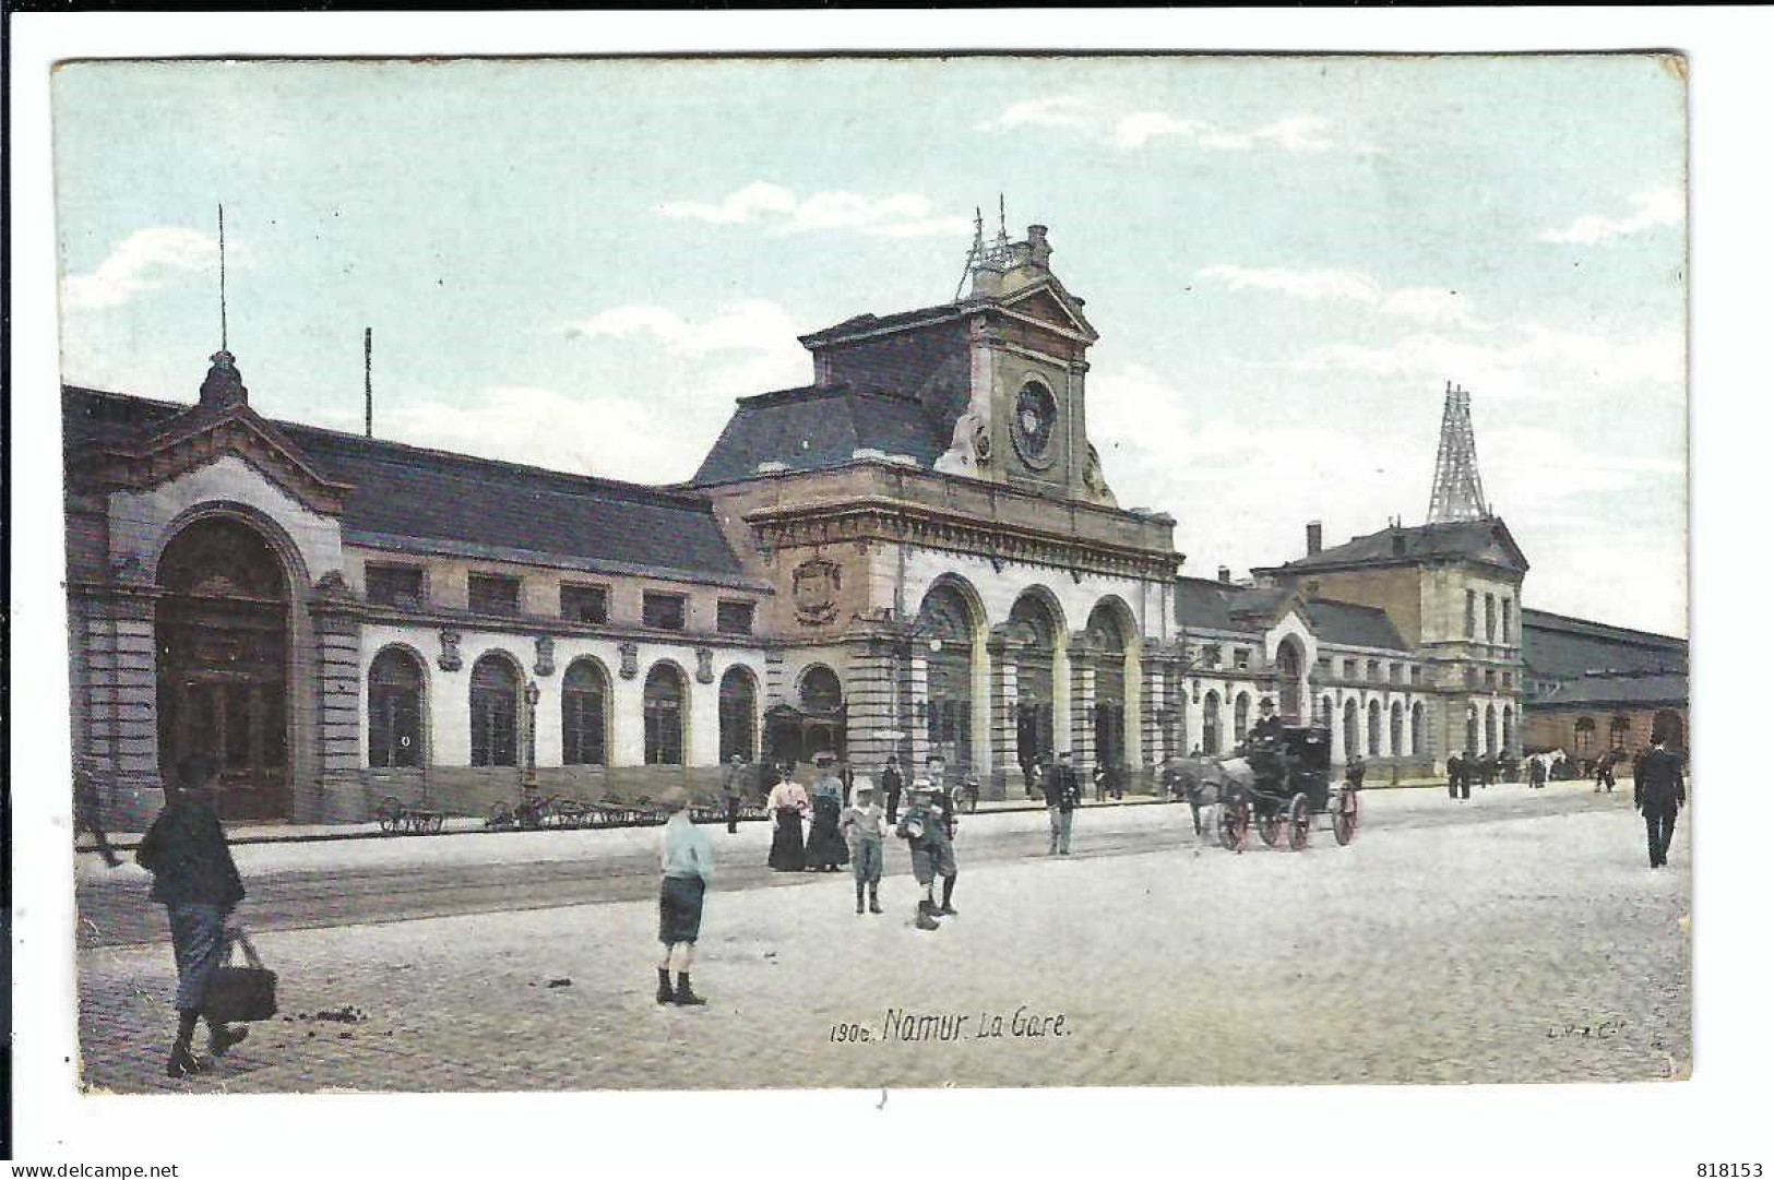
<path id="1" fill-rule="evenodd" d="M 73 742 L 112 822 L 188 752 L 229 820 L 342 823 L 708 791 L 733 754 L 937 756 L 990 798 L 1071 751 L 1141 790 L 1265 699 L 1380 774 L 1519 747 L 1503 522 L 1181 577 L 1091 445 L 1098 334 L 1050 259 L 1001 234 L 956 300 L 800 337 L 812 382 L 742 397 L 678 486 L 271 422 L 227 351 L 195 405 L 66 387 Z"/>

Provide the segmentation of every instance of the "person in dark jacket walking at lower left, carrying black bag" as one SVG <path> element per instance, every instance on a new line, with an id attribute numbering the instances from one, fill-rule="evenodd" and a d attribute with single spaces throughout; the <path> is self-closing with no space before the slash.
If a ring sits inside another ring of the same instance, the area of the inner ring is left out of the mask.
<path id="1" fill-rule="evenodd" d="M 209 1068 L 192 1054 L 192 1034 L 204 1015 L 209 976 L 227 956 L 229 916 L 247 889 L 234 868 L 234 855 L 222 834 L 215 809 L 216 767 L 202 756 L 190 756 L 174 768 L 167 784 L 167 806 L 147 829 L 135 861 L 154 875 L 151 896 L 167 907 L 172 930 L 172 958 L 179 969 L 179 990 L 172 1004 L 179 1013 L 167 1077 L 186 1077 Z M 209 1026 L 209 1052 L 216 1058 L 247 1038 L 247 1029 L 204 1017 Z"/>

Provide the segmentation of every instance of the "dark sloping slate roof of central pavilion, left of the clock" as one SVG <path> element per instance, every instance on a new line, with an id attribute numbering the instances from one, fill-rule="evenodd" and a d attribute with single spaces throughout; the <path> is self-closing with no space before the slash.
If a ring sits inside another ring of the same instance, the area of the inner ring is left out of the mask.
<path id="1" fill-rule="evenodd" d="M 690 484 L 750 479 L 759 463 L 823 470 L 850 463 L 860 449 L 908 454 L 930 467 L 947 438 L 908 394 L 844 383 L 784 389 L 738 399 Z"/>

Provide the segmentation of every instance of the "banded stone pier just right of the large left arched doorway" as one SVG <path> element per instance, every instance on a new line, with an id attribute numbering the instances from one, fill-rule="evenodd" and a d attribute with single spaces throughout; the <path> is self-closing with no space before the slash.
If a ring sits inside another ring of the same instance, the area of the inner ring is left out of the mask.
<path id="1" fill-rule="evenodd" d="M 309 616 L 314 619 L 318 726 L 316 783 L 294 783 L 298 823 L 362 823 L 369 818 L 369 786 L 364 775 L 364 743 L 358 704 L 364 694 L 360 625 L 349 589 L 337 575 L 314 587 Z M 294 731 L 300 733 L 300 728 Z M 302 765 L 296 759 L 294 765 Z"/>

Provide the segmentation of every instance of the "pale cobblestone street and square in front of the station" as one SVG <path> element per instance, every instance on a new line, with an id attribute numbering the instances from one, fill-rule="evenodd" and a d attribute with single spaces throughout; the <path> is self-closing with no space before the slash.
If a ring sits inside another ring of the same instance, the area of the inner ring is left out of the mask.
<path id="1" fill-rule="evenodd" d="M 1075 855 L 1047 859 L 1043 814 L 976 818 L 958 843 L 962 914 L 935 933 L 910 924 L 903 846 L 889 850 L 880 917 L 852 912 L 848 873 L 752 887 L 729 873 L 703 924 L 704 1010 L 653 1003 L 649 900 L 261 924 L 284 1015 L 192 1082 L 160 1068 L 172 962 L 154 914 L 158 942 L 80 951 L 85 1079 L 106 1091 L 397 1091 L 1687 1072 L 1687 814 L 1671 868 L 1650 871 L 1630 788 L 1499 786 L 1469 804 L 1370 791 L 1366 806 L 1352 846 L 1316 832 L 1304 854 L 1197 848 L 1187 809 L 1128 807 L 1114 813 L 1116 836 L 1109 816 L 1087 813 Z M 546 855 L 555 871 L 566 859 L 591 875 L 600 857 L 637 855 L 628 845 L 640 836 L 585 834 L 577 861 L 566 845 Z M 264 846 L 239 859 L 248 891 L 325 857 L 339 866 L 334 887 L 351 893 L 385 880 L 358 882 L 353 864 L 467 862 L 479 839 Z M 497 855 L 518 855 L 523 839 L 498 841 Z M 761 859 L 761 829 L 715 839 L 729 841 L 724 866 Z M 970 862 L 988 843 L 1001 855 Z M 644 869 L 628 877 L 646 880 Z M 795 887 L 761 887 L 781 884 Z M 135 905 L 154 909 L 145 896 Z M 889 1011 L 963 1020 L 953 1040 L 907 1040 L 883 1036 Z M 850 1026 L 867 1040 L 836 1042 Z M 1031 1026 L 1047 1034 L 1018 1034 Z"/>

